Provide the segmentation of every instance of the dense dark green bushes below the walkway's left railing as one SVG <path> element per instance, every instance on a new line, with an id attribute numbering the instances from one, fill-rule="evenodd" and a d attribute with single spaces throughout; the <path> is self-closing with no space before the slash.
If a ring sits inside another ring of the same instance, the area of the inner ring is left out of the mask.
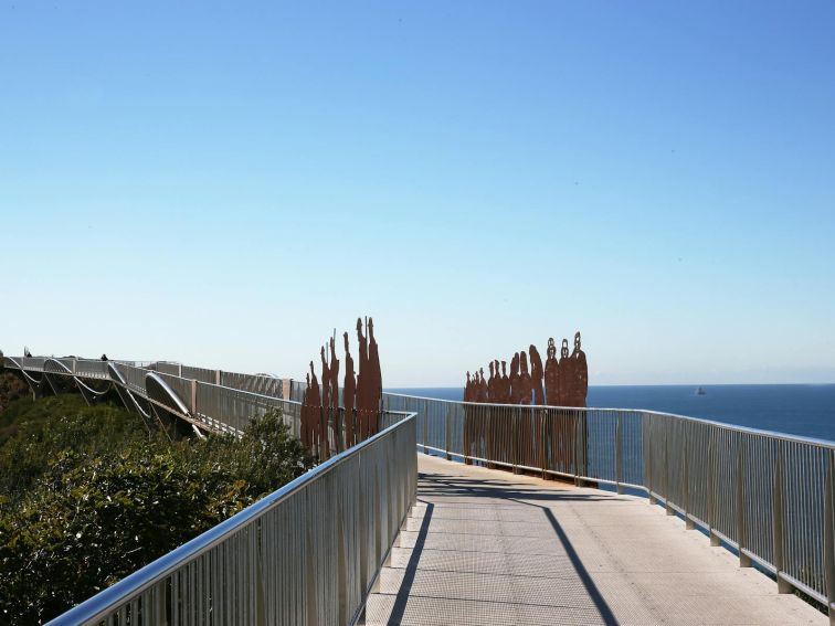
<path id="1" fill-rule="evenodd" d="M 78 395 L 0 414 L 0 624 L 50 619 L 309 469 L 268 413 L 240 441 L 170 442 Z"/>

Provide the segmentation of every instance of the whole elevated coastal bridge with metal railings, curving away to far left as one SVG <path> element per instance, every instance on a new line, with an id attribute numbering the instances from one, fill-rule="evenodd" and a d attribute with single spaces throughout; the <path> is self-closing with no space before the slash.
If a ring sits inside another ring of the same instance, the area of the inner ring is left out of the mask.
<path id="1" fill-rule="evenodd" d="M 57 363 L 57 364 L 56 364 Z M 235 435 L 300 385 L 4 358 Z M 647 411 L 383 395 L 381 428 L 54 624 L 835 624 L 835 445 Z"/>

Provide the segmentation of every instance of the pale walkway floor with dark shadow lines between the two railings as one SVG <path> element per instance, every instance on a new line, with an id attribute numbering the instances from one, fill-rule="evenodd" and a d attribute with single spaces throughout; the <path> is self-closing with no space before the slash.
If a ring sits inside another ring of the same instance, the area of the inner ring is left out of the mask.
<path id="1" fill-rule="evenodd" d="M 828 624 L 644 498 L 418 456 L 369 624 Z"/>

